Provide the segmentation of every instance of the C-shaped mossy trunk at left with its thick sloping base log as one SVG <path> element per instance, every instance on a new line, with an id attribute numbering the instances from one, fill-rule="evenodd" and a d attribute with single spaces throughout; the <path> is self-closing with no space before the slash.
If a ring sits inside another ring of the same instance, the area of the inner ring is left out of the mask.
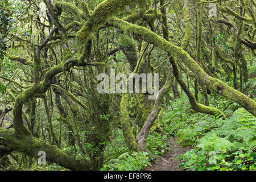
<path id="1" fill-rule="evenodd" d="M 48 153 L 48 159 L 60 164 L 61 166 L 70 169 L 84 169 L 88 170 L 88 164 L 82 164 L 73 156 L 65 154 L 62 150 L 56 146 L 50 144 L 45 144 L 40 142 L 40 140 L 32 137 L 30 131 L 23 125 L 22 120 L 22 106 L 25 102 L 35 97 L 37 94 L 45 93 L 52 83 L 53 76 L 61 73 L 63 71 L 68 71 L 71 67 L 76 65 L 76 63 L 69 63 L 68 59 L 71 57 L 70 51 L 64 52 L 64 60 L 59 65 L 49 69 L 44 76 L 44 80 L 32 85 L 30 88 L 24 90 L 15 99 L 15 104 L 13 106 L 13 125 L 15 132 L 14 134 L 8 133 L 9 131 L 3 131 L 2 134 L 5 135 L 5 140 L 7 141 L 5 146 L 10 150 L 21 151 L 30 156 L 36 156 L 38 151 L 36 149 L 46 151 Z M 84 66 L 88 64 L 82 64 Z M 90 65 L 90 64 L 89 64 Z M 1 131 L 0 131 L 1 133 Z"/>

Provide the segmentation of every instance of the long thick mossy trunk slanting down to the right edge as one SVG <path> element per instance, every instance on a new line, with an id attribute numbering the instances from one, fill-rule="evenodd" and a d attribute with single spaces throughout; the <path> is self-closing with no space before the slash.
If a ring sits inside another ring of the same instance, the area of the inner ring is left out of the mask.
<path id="1" fill-rule="evenodd" d="M 207 73 L 205 73 L 204 70 L 196 63 L 196 61 L 193 60 L 192 57 L 189 56 L 189 54 L 180 47 L 177 47 L 174 44 L 168 42 L 167 40 L 164 40 L 159 35 L 151 32 L 147 28 L 130 24 L 118 18 L 112 18 L 112 23 L 113 26 L 121 30 L 141 35 L 142 38 L 147 42 L 154 44 L 155 46 L 162 48 L 164 51 L 171 53 L 175 57 L 175 59 L 183 61 L 183 63 L 187 65 L 187 67 L 191 69 L 192 72 L 196 73 L 196 77 L 199 79 L 200 82 L 213 89 L 221 96 L 237 102 L 251 114 L 256 115 L 255 101 L 251 100 L 249 97 L 238 92 L 237 90 L 230 88 L 229 85 L 225 84 L 221 80 L 208 76 Z"/>

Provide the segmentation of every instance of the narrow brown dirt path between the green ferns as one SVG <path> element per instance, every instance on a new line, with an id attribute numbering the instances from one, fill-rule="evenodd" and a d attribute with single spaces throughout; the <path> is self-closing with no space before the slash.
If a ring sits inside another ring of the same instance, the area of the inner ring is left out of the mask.
<path id="1" fill-rule="evenodd" d="M 177 144 L 177 138 L 171 138 L 168 142 L 171 151 L 166 154 L 165 158 L 159 157 L 152 166 L 148 166 L 146 171 L 183 171 L 183 168 L 179 167 L 179 160 L 175 160 L 178 155 L 184 154 L 191 147 L 183 147 L 181 144 Z"/>

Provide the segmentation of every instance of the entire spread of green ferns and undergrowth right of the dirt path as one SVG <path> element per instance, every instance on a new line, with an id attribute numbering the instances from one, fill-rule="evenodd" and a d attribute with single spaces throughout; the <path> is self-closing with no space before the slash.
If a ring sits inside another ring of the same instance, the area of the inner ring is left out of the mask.
<path id="1" fill-rule="evenodd" d="M 237 104 L 222 103 L 227 120 L 195 113 L 187 98 L 173 103 L 163 117 L 164 130 L 193 149 L 179 156 L 187 170 L 255 170 L 256 118 Z"/>

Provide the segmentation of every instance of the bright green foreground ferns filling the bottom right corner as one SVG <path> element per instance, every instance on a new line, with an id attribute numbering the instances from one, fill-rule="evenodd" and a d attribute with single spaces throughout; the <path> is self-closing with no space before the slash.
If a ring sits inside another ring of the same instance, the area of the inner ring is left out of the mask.
<path id="1" fill-rule="evenodd" d="M 181 166 L 189 170 L 256 170 L 256 118 L 238 109 L 183 154 Z"/>

